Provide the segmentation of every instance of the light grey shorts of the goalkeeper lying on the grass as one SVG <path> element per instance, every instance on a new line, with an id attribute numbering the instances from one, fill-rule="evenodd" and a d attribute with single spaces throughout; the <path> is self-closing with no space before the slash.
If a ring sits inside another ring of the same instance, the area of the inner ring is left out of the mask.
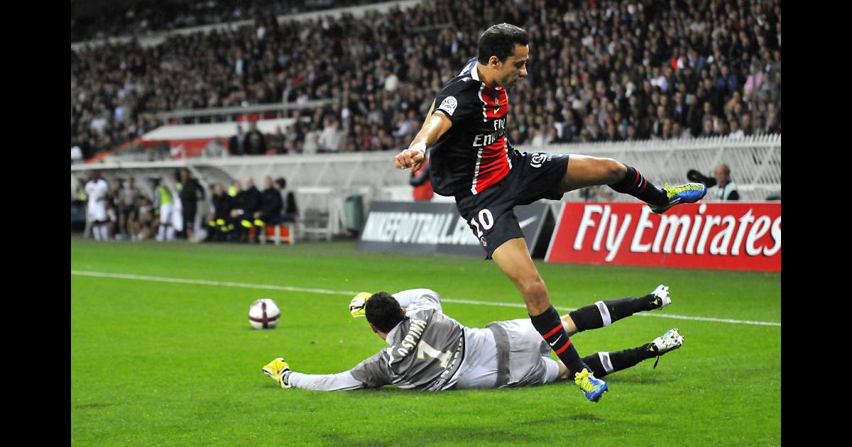
<path id="1" fill-rule="evenodd" d="M 498 387 L 529 387 L 559 380 L 559 364 L 550 358 L 550 346 L 529 318 L 496 321 L 486 327 L 497 342 Z"/>

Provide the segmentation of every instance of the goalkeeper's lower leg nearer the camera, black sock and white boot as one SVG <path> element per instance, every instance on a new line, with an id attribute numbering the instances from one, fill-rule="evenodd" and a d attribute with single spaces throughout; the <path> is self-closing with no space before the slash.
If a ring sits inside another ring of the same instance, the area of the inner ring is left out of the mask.
<path id="1" fill-rule="evenodd" d="M 666 331 L 665 334 L 642 346 L 615 352 L 595 352 L 584 357 L 583 361 L 591 367 L 597 377 L 603 377 L 636 366 L 636 364 L 648 360 L 648 358 L 656 357 L 657 362 L 659 362 L 659 358 L 663 354 L 682 346 L 683 336 L 675 328 Z M 657 362 L 654 362 L 654 368 L 657 367 Z M 571 380 L 573 378 L 563 364 L 559 365 L 559 373 L 563 379 Z"/>

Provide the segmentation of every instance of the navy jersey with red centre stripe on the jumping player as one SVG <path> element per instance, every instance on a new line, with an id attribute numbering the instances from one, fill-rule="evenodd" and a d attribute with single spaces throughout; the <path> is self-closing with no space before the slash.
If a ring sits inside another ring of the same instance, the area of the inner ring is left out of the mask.
<path id="1" fill-rule="evenodd" d="M 503 87 L 480 81 L 475 58 L 435 97 L 433 113 L 439 112 L 450 118 L 452 127 L 429 148 L 436 193 L 478 194 L 509 174 L 509 97 Z"/>

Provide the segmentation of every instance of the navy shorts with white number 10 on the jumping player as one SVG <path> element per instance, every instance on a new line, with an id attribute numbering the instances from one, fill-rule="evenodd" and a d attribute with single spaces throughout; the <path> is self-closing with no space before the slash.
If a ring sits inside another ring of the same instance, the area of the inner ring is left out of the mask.
<path id="1" fill-rule="evenodd" d="M 562 198 L 559 185 L 568 169 L 567 154 L 513 150 L 509 160 L 512 169 L 503 180 L 479 194 L 456 197 L 458 213 L 480 240 L 485 259 L 509 239 L 524 237 L 515 206 Z"/>

